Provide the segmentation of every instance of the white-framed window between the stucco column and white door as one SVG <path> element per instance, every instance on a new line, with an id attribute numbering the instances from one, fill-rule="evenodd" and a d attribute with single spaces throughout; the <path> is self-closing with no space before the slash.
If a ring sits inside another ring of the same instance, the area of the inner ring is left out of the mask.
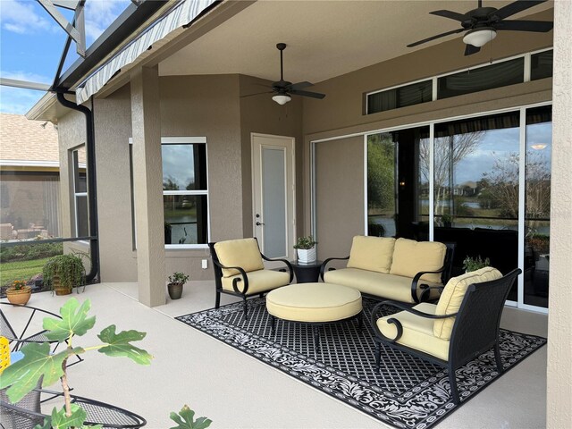
<path id="1" fill-rule="evenodd" d="M 206 138 L 164 138 L 163 205 L 165 245 L 208 242 Z"/>

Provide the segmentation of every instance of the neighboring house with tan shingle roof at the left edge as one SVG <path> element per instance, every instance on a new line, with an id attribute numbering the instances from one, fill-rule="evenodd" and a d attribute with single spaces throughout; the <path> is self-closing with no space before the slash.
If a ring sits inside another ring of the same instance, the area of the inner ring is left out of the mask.
<path id="1" fill-rule="evenodd" d="M 57 130 L 20 114 L 0 114 L 0 240 L 59 236 Z"/>

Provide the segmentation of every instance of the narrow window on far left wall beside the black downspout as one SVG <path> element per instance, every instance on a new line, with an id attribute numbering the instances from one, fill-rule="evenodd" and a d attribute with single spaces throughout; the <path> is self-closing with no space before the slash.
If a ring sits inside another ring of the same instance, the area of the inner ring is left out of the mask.
<path id="1" fill-rule="evenodd" d="M 86 176 L 86 147 L 81 146 L 71 151 L 72 186 L 73 186 L 73 218 L 74 237 L 88 237 L 88 179 Z"/>

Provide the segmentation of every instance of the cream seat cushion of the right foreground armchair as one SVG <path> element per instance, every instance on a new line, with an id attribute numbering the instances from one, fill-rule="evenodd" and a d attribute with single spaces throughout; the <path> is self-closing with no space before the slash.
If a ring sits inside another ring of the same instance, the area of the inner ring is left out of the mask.
<path id="1" fill-rule="evenodd" d="M 436 306 L 422 302 L 413 308 L 423 313 L 433 315 Z M 386 315 L 377 320 L 377 327 L 383 335 L 388 338 L 395 338 L 397 336 L 395 324 L 387 323 L 391 318 L 398 319 L 403 326 L 403 334 L 401 338 L 396 341 L 397 343 L 410 347 L 411 349 L 423 351 L 443 360 L 449 360 L 450 341 L 433 335 L 433 319 L 413 315 L 407 311 L 400 311 L 394 315 Z"/>

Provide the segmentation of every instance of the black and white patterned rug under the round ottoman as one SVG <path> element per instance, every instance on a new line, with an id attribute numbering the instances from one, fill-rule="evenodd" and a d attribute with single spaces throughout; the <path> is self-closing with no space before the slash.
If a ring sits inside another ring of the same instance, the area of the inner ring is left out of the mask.
<path id="1" fill-rule="evenodd" d="M 363 304 L 369 320 L 375 301 L 364 298 Z M 271 334 L 265 299 L 248 300 L 248 320 L 242 316 L 242 303 L 176 319 L 394 427 L 428 428 L 459 407 L 450 398 L 447 370 L 441 366 L 383 347 L 378 373 L 374 332 L 366 320 L 362 331 L 356 321 L 321 326 L 316 352 L 307 324 L 278 321 Z M 505 370 L 545 343 L 542 337 L 501 330 Z M 459 368 L 456 375 L 463 405 L 499 377 L 492 349 Z"/>

